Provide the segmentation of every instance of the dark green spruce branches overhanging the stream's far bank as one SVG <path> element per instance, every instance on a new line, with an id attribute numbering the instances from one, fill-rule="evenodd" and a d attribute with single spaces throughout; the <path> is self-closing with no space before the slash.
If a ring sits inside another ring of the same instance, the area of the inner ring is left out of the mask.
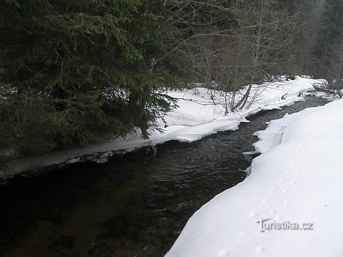
<path id="1" fill-rule="evenodd" d="M 187 61 L 164 1 L 7 0 L 0 9 L 0 144 L 17 155 L 145 137 Z"/>

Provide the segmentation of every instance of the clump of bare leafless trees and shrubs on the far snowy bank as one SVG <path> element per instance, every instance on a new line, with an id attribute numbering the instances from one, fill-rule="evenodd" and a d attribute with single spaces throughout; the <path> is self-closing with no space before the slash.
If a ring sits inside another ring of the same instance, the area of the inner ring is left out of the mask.
<path id="1" fill-rule="evenodd" d="M 215 4 L 215 1 L 204 3 Z M 286 74 L 291 67 L 297 14 L 289 15 L 279 3 L 277 0 L 235 1 L 225 10 L 233 21 L 232 26 L 201 27 L 179 47 L 191 57 L 194 74 L 209 90 L 225 92 L 226 113 L 250 107 L 258 93 L 255 90 L 249 98 L 254 84 L 261 84 L 269 75 Z M 190 20 L 182 21 L 189 24 Z M 209 22 L 218 21 L 214 16 Z M 242 95 L 240 89 L 246 85 Z"/>

